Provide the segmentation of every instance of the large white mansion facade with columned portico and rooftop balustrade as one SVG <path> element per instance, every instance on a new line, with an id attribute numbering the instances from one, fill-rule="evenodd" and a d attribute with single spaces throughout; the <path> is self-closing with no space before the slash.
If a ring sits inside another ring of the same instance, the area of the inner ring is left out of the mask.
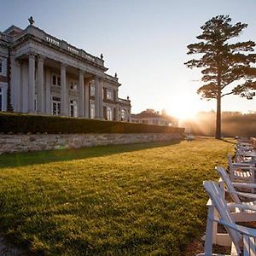
<path id="1" fill-rule="evenodd" d="M 131 121 L 119 79 L 90 55 L 31 24 L 0 32 L 0 111 Z"/>

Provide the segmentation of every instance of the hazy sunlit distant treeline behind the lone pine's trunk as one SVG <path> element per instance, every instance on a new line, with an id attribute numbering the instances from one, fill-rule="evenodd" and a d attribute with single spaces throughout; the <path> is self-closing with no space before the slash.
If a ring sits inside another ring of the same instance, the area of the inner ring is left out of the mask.
<path id="1" fill-rule="evenodd" d="M 179 124 L 185 127 L 187 132 L 194 135 L 215 135 L 216 113 L 200 112 L 195 119 L 183 121 Z M 222 136 L 224 137 L 256 137 L 256 112 L 223 112 L 222 113 Z"/>

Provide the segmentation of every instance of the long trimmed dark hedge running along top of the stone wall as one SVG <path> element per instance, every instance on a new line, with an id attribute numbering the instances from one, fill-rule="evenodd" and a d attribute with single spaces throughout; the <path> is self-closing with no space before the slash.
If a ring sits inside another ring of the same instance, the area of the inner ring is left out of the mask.
<path id="1" fill-rule="evenodd" d="M 179 133 L 184 129 L 171 126 L 133 124 L 97 119 L 0 113 L 2 133 Z"/>

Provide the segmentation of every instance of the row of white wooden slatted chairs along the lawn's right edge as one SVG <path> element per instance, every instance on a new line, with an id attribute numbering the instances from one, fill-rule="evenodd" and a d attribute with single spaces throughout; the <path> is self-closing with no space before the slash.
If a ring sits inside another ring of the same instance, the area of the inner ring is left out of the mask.
<path id="1" fill-rule="evenodd" d="M 219 181 L 205 181 L 207 230 L 204 253 L 256 256 L 256 151 L 251 140 L 238 138 L 236 154 L 228 155 L 228 170 L 217 166 Z M 255 156 L 254 156 L 255 154 Z M 248 227 L 248 224 L 251 227 Z M 222 226 L 222 228 L 220 228 Z M 229 247 L 229 254 L 214 252 L 214 245 Z"/>

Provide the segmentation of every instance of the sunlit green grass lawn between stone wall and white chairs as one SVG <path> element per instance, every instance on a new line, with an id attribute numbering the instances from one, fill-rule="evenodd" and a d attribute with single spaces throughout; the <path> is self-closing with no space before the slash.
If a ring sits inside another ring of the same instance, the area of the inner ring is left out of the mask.
<path id="1" fill-rule="evenodd" d="M 183 255 L 205 230 L 202 181 L 232 148 L 205 138 L 0 156 L 0 230 L 38 255 Z"/>

